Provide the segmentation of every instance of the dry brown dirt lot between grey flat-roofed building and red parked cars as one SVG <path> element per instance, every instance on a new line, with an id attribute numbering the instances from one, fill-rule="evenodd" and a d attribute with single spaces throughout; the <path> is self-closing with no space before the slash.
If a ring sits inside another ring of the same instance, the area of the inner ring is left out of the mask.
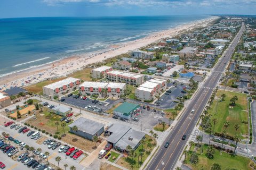
<path id="1" fill-rule="evenodd" d="M 82 137 L 79 137 L 76 135 L 76 139 L 74 139 L 74 134 L 66 133 L 66 137 L 61 138 L 62 141 L 66 143 L 70 143 L 70 145 L 73 145 L 77 148 L 81 148 L 82 150 L 85 150 L 87 152 L 92 152 L 94 150 L 94 142 L 84 139 Z M 96 146 L 98 147 L 100 143 L 96 143 Z"/>

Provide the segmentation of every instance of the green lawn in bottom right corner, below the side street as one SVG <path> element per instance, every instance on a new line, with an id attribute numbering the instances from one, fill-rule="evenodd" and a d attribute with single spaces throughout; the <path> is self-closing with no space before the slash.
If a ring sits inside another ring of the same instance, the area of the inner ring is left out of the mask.
<path id="1" fill-rule="evenodd" d="M 189 162 L 189 158 L 191 155 L 187 155 L 186 163 L 189 167 L 191 167 L 193 170 L 194 169 L 211 169 L 211 166 L 214 163 L 217 163 L 221 166 L 221 169 L 226 169 L 226 168 L 235 168 L 235 169 L 251 169 L 249 164 L 251 160 L 246 157 L 242 156 L 234 156 L 233 154 L 227 154 L 227 152 L 222 152 L 220 153 L 219 150 L 215 151 L 215 154 L 213 155 L 213 159 L 209 159 L 206 157 L 206 149 L 207 146 L 204 145 L 203 148 L 203 154 L 201 154 L 201 149 L 198 149 L 199 151 L 197 152 L 198 154 L 198 163 L 197 164 L 191 164 Z M 193 148 L 191 148 L 193 150 Z"/>

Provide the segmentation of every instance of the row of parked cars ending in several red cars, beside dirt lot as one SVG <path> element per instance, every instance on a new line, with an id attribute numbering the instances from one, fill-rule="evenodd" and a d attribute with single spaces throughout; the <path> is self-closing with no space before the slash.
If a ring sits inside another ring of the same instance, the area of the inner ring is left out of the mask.
<path id="1" fill-rule="evenodd" d="M 60 142 L 57 142 L 57 141 L 52 140 L 52 139 L 46 139 L 43 142 L 43 144 L 47 145 L 47 148 L 52 149 L 52 150 L 58 148 L 61 145 Z M 73 159 L 77 159 L 83 154 L 82 150 L 78 150 L 75 147 L 69 147 L 68 145 L 62 146 L 58 150 L 58 152 L 59 153 L 64 152 L 64 153 L 66 153 L 66 156 L 69 156 L 70 158 L 73 158 Z"/>

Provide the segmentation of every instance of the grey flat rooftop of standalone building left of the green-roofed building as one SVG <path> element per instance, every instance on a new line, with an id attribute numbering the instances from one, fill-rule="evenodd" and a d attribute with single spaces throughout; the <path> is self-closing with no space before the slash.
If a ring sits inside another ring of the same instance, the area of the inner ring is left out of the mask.
<path id="1" fill-rule="evenodd" d="M 85 133 L 88 133 L 88 134 L 91 134 L 91 135 L 94 135 L 101 128 L 104 128 L 104 124 L 98 123 L 98 122 L 95 122 L 95 121 L 91 121 L 91 120 L 89 120 L 87 118 L 84 118 L 84 117 L 78 118 L 78 120 L 76 120 L 75 122 L 71 123 L 68 126 L 70 128 L 72 128 L 75 125 L 77 126 L 79 131 L 84 131 Z"/>

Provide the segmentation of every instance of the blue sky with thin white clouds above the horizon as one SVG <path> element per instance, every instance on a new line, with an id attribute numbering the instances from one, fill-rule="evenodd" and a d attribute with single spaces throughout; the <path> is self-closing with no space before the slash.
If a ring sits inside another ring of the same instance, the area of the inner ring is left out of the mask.
<path id="1" fill-rule="evenodd" d="M 0 18 L 256 14 L 256 0 L 1 0 Z"/>

